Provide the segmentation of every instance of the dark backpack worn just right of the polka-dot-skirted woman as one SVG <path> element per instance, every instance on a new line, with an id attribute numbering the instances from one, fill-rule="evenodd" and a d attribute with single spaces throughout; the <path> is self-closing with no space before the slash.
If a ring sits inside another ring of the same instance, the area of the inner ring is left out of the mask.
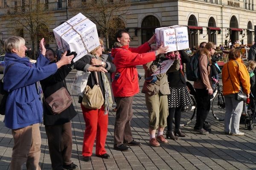
<path id="1" fill-rule="evenodd" d="M 190 61 L 186 63 L 186 78 L 189 81 L 197 81 L 200 78 L 199 68 L 198 68 L 198 58 L 199 53 L 194 54 L 190 57 Z"/>

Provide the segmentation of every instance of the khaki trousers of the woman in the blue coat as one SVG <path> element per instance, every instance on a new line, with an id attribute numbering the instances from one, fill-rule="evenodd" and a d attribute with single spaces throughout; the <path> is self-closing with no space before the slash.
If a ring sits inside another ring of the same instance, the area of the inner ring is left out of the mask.
<path id="1" fill-rule="evenodd" d="M 12 148 L 11 170 L 22 170 L 26 162 L 27 170 L 41 170 L 39 159 L 41 153 L 41 134 L 39 123 L 12 129 L 14 147 Z"/>

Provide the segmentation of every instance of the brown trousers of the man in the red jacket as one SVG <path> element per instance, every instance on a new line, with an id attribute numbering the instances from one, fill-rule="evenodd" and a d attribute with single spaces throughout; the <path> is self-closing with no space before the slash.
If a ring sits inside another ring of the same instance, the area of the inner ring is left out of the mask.
<path id="1" fill-rule="evenodd" d="M 132 142 L 131 119 L 133 96 L 115 97 L 116 99 L 116 122 L 114 128 L 114 147 Z"/>

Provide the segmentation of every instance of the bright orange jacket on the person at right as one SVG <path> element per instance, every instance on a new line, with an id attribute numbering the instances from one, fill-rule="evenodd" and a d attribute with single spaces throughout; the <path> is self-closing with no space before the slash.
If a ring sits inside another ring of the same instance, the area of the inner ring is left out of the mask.
<path id="1" fill-rule="evenodd" d="M 237 61 L 237 63 L 236 63 Z M 241 61 L 241 59 L 231 59 L 222 68 L 222 83 L 223 83 L 223 94 L 235 94 L 240 90 L 240 85 L 245 94 L 250 94 L 250 76 L 249 73 Z M 229 72 L 227 70 L 227 66 Z M 229 74 L 230 77 L 229 77 Z M 231 84 L 230 78 L 232 79 L 233 86 Z"/>

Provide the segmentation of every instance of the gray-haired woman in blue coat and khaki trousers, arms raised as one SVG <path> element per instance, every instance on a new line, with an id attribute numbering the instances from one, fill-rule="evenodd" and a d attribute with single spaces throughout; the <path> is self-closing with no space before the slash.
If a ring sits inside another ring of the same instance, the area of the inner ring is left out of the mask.
<path id="1" fill-rule="evenodd" d="M 41 170 L 39 167 L 43 107 L 38 81 L 54 74 L 62 65 L 71 62 L 74 56 L 62 57 L 57 63 L 49 64 L 45 58 L 44 38 L 40 42 L 41 54 L 32 64 L 25 57 L 25 40 L 22 37 L 9 37 L 4 42 L 5 69 L 4 90 L 9 92 L 6 101 L 5 125 L 12 129 L 11 170 L 22 170 L 26 162 L 28 170 Z M 67 54 L 64 53 L 64 56 Z"/>

